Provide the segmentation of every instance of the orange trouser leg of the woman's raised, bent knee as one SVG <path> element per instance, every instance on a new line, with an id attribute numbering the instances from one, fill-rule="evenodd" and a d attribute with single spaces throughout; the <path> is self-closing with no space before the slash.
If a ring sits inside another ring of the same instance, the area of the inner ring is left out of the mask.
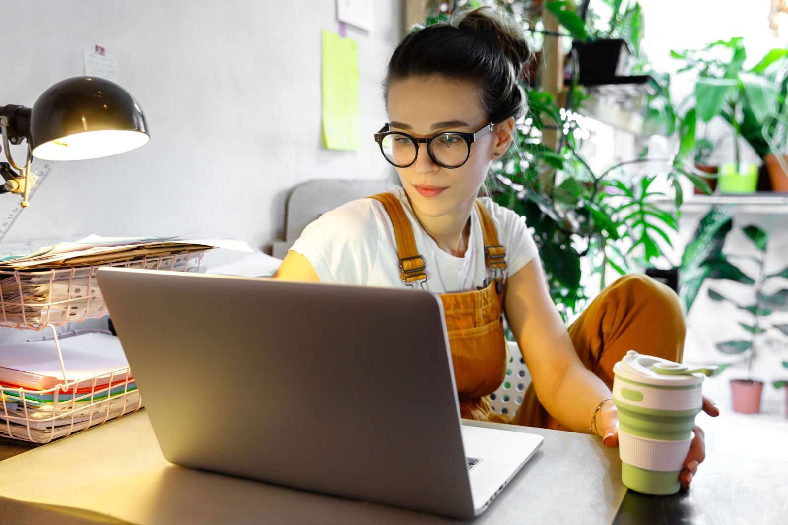
<path id="1" fill-rule="evenodd" d="M 675 292 L 633 274 L 602 290 L 569 327 L 569 335 L 585 368 L 612 389 L 613 365 L 629 350 L 681 362 L 686 327 Z M 511 423 L 566 430 L 541 405 L 533 383 Z"/>

